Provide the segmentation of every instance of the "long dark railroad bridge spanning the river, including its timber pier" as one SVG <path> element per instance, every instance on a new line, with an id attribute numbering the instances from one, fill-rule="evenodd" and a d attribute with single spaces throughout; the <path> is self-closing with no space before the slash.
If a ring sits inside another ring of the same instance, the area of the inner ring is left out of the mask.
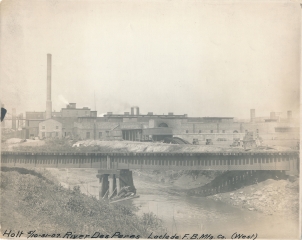
<path id="1" fill-rule="evenodd" d="M 110 153 L 1 153 L 1 165 L 25 168 L 96 168 L 100 199 L 132 186 L 131 169 L 154 170 L 280 170 L 299 171 L 299 151 L 252 152 L 110 152 Z M 135 188 L 134 188 L 135 189 Z"/>

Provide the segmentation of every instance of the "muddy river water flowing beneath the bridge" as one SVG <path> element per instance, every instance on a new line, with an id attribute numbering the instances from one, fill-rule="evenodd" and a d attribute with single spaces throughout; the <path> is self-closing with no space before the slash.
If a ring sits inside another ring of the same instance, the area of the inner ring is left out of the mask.
<path id="1" fill-rule="evenodd" d="M 79 185 L 83 193 L 98 198 L 98 183 L 91 181 L 94 180 L 91 173 L 69 171 L 68 175 L 70 179 L 82 178 L 82 184 L 75 185 Z M 114 204 L 135 205 L 140 215 L 153 212 L 163 220 L 168 234 L 203 233 L 212 234 L 215 238 L 222 234 L 231 238 L 237 232 L 246 235 L 257 233 L 258 239 L 297 239 L 298 220 L 290 220 L 285 216 L 266 216 L 212 199 L 187 196 L 168 184 L 152 182 L 137 175 L 133 177 L 140 197 Z"/>

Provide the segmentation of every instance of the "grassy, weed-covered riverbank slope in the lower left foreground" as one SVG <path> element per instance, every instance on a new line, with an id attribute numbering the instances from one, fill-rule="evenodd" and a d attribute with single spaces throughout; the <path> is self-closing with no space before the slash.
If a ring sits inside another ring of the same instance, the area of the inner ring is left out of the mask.
<path id="1" fill-rule="evenodd" d="M 152 214 L 138 217 L 134 209 L 109 205 L 82 194 L 79 188 L 65 189 L 40 174 L 1 172 L 1 231 L 6 229 L 37 233 L 67 231 L 90 234 L 146 237 L 161 231 L 161 221 Z"/>

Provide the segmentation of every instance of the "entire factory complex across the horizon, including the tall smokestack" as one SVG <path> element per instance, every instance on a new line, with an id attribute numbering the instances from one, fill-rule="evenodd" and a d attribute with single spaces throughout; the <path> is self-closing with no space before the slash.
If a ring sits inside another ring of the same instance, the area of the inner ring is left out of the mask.
<path id="1" fill-rule="evenodd" d="M 61 111 L 52 111 L 51 100 L 51 54 L 47 54 L 46 111 L 16 114 L 13 109 L 11 128 L 18 137 L 28 138 L 70 138 L 93 140 L 162 141 L 167 137 L 180 137 L 186 141 L 230 140 L 243 137 L 246 131 L 259 132 L 263 138 L 298 139 L 299 125 L 292 119 L 292 111 L 286 118 L 271 112 L 270 117 L 256 117 L 255 109 L 250 110 L 248 121 L 233 117 L 189 117 L 169 112 L 157 115 L 142 113 L 139 107 L 129 112 L 108 112 L 98 116 L 97 111 L 88 107 L 79 108 L 69 103 Z M 2 122 L 2 127 L 10 124 Z"/>

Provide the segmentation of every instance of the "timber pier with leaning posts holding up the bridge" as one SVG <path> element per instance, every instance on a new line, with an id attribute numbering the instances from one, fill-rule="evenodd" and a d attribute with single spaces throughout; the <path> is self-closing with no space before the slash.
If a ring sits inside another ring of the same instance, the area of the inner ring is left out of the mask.
<path id="1" fill-rule="evenodd" d="M 112 198 L 115 195 L 118 195 L 124 186 L 129 186 L 130 191 L 136 193 L 136 189 L 133 184 L 132 171 L 129 171 L 128 169 L 100 169 L 96 177 L 99 178 L 100 183 L 100 200 L 104 197 Z"/>

